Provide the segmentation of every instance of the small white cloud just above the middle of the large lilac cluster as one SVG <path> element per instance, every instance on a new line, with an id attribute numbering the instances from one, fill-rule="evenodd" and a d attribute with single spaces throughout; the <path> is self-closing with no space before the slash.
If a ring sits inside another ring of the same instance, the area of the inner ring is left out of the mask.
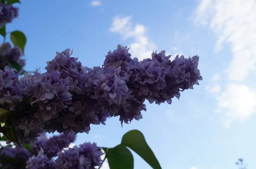
<path id="1" fill-rule="evenodd" d="M 131 22 L 132 16 L 128 17 L 113 17 L 111 28 L 113 33 L 122 36 L 122 39 L 133 38 L 133 41 L 128 47 L 131 47 L 129 52 L 132 56 L 139 60 L 150 58 L 152 51 L 156 50 L 157 46 L 146 36 L 146 28 L 142 24 L 133 26 Z"/>

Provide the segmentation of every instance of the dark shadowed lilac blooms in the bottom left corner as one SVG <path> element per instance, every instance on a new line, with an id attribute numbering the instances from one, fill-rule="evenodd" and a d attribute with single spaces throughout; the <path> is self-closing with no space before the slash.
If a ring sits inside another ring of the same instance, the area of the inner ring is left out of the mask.
<path id="1" fill-rule="evenodd" d="M 0 163 L 5 169 L 22 169 L 25 168 L 26 160 L 31 156 L 32 153 L 23 147 L 16 146 L 12 148 L 6 146 L 0 153 Z M 12 161 L 9 161 L 7 158 L 12 158 Z"/>

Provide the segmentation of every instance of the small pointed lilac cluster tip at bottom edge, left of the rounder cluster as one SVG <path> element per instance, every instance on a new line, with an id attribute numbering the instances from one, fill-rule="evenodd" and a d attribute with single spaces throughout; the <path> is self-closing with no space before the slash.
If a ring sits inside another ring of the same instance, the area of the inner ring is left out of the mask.
<path id="1" fill-rule="evenodd" d="M 55 169 L 53 162 L 49 161 L 44 151 L 41 149 L 38 155 L 33 155 L 26 161 L 26 169 Z"/>

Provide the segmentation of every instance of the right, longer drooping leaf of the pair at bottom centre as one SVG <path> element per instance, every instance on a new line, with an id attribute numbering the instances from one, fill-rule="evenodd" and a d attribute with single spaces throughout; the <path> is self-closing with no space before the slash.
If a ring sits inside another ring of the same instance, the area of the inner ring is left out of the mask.
<path id="1" fill-rule="evenodd" d="M 128 146 L 141 158 L 143 158 L 153 169 L 161 169 L 154 152 L 148 146 L 145 138 L 139 130 L 131 130 L 122 137 L 122 143 L 124 146 Z"/>

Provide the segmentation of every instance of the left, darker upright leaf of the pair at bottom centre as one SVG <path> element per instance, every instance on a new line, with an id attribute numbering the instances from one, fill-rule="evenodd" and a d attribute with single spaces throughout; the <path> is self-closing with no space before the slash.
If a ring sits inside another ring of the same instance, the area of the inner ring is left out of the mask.
<path id="1" fill-rule="evenodd" d="M 133 169 L 134 158 L 130 150 L 123 145 L 108 149 L 108 165 L 110 169 Z"/>

